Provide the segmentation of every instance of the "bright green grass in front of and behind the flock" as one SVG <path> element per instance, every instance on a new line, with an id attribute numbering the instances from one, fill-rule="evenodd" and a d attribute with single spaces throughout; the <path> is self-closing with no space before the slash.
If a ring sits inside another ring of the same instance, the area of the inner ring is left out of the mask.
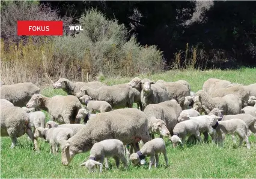
<path id="1" fill-rule="evenodd" d="M 242 68 L 238 70 L 221 71 L 168 71 L 162 74 L 141 75 L 151 80 L 177 81 L 187 80 L 192 91 L 197 92 L 208 78 L 220 78 L 231 82 L 251 84 L 256 83 L 256 69 Z M 105 79 L 106 84 L 126 83 L 131 78 Z M 47 87 L 43 95 L 66 95 L 62 90 L 53 90 Z M 135 107 L 135 106 L 134 106 Z M 48 116 L 47 116 L 48 120 Z M 251 135 L 251 150 L 243 144 L 237 147 L 231 137 L 227 136 L 224 148 L 215 144 L 199 143 L 172 148 L 165 139 L 169 159 L 166 168 L 163 156 L 160 156 L 160 166 L 148 171 L 147 165 L 128 169 L 123 166 L 115 168 L 114 160 L 109 160 L 110 169 L 103 169 L 103 173 L 88 174 L 86 168 L 79 165 L 87 159 L 89 152 L 77 154 L 70 166 L 61 165 L 61 153 L 49 154 L 49 144 L 39 140 L 40 153 L 32 151 L 32 142 L 26 135 L 18 138 L 19 145 L 10 150 L 11 139 L 1 137 L 1 178 L 256 178 L 256 137 Z M 237 142 L 239 141 L 237 137 Z"/>

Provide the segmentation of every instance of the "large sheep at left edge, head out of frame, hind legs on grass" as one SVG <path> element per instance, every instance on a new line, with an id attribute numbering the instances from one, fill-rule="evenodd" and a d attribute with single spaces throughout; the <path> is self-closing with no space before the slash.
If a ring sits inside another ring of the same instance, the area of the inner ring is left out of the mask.
<path id="1" fill-rule="evenodd" d="M 4 102 L 3 102 L 4 101 Z M 20 107 L 14 107 L 11 102 L 1 99 L 1 136 L 10 136 L 14 148 L 17 137 L 27 134 L 34 142 L 34 149 L 39 150 L 37 140 L 34 139 L 28 114 Z"/>

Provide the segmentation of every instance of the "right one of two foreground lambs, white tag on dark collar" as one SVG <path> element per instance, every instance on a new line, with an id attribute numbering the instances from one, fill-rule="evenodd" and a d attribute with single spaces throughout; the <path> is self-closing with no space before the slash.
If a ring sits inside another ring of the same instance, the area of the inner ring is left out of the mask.
<path id="1" fill-rule="evenodd" d="M 159 163 L 158 153 L 163 153 L 166 165 L 168 166 L 168 157 L 166 154 L 165 141 L 163 141 L 162 138 L 155 138 L 151 141 L 146 142 L 141 150 L 130 155 L 130 160 L 132 161 L 133 165 L 137 165 L 139 162 L 141 162 L 141 164 L 144 164 L 143 159 L 145 159 L 145 156 L 150 156 L 150 164 L 148 169 L 151 169 L 153 163 L 155 167 L 157 167 Z M 154 161 L 155 159 L 156 161 Z"/>

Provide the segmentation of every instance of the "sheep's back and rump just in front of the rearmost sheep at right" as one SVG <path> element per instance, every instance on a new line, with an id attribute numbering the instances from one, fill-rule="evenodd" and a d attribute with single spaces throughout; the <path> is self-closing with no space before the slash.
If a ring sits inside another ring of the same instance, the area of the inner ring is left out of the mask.
<path id="1" fill-rule="evenodd" d="M 219 88 L 212 92 L 212 97 L 224 97 L 225 95 L 237 95 L 242 100 L 242 107 L 248 105 L 249 100 L 249 90 L 243 86 L 231 86 L 227 88 Z"/>

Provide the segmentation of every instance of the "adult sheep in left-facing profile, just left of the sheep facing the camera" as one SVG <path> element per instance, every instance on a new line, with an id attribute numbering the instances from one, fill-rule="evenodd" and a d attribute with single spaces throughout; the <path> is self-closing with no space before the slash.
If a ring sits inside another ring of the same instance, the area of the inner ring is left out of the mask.
<path id="1" fill-rule="evenodd" d="M 90 96 L 93 100 L 106 101 L 112 108 L 132 108 L 135 92 L 127 84 L 117 84 L 99 89 L 84 86 L 76 93 L 76 97 L 81 98 L 84 95 Z"/>

